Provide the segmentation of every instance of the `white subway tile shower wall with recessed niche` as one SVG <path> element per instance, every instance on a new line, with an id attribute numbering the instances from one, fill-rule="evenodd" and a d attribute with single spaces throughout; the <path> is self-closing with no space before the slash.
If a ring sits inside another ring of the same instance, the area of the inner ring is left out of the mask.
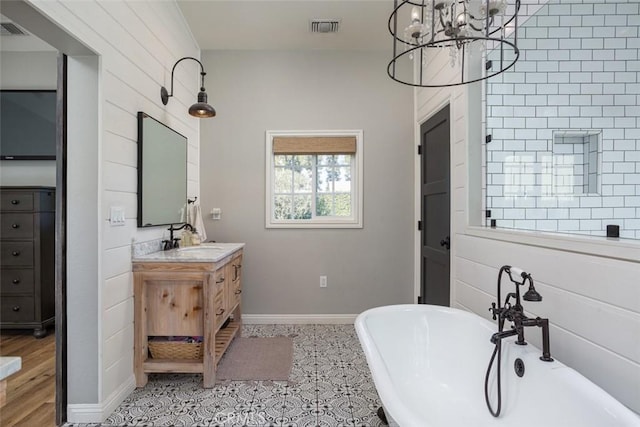
<path id="1" fill-rule="evenodd" d="M 487 83 L 487 225 L 640 239 L 639 6 L 554 0 L 521 24 Z"/>

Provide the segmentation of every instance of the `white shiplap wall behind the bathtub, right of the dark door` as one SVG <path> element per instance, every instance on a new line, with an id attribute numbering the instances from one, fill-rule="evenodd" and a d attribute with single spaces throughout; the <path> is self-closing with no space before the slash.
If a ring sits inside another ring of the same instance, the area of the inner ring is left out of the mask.
<path id="1" fill-rule="evenodd" d="M 426 70 L 448 69 L 448 64 L 448 52 L 442 52 L 429 58 Z M 453 81 L 459 70 L 449 72 Z M 499 232 L 495 238 L 491 231 L 481 236 L 467 226 L 480 220 L 473 218 L 480 214 L 474 183 L 481 179 L 481 152 L 474 146 L 481 138 L 469 131 L 477 129 L 475 121 L 480 120 L 474 117 L 481 105 L 479 96 L 470 96 L 474 90 L 463 86 L 416 91 L 417 127 L 447 102 L 452 106 L 452 305 L 489 318 L 500 266 L 525 269 L 544 298 L 539 303 L 525 303 L 525 309 L 530 315 L 550 319 L 553 357 L 640 412 L 640 261 L 553 249 L 553 240 L 543 235 L 538 244 L 548 245 L 546 248 L 519 243 L 517 237 L 507 242 L 498 239 Z M 420 169 L 416 167 L 416 171 L 419 192 Z M 416 201 L 419 203 L 417 196 Z M 416 240 L 418 244 L 418 235 Z M 573 247 L 589 252 L 585 245 L 576 239 Z M 540 346 L 538 330 L 527 330 L 526 336 Z"/>

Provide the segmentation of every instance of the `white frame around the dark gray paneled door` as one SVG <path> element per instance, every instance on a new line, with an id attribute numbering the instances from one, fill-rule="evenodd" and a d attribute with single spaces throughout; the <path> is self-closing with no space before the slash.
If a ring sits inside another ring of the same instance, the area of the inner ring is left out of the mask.
<path id="1" fill-rule="evenodd" d="M 416 95 L 414 95 L 414 98 L 416 97 Z M 416 103 L 417 105 L 417 103 Z M 453 99 L 453 93 L 447 93 L 445 94 L 442 98 L 440 98 L 440 100 L 433 105 L 433 107 L 429 110 L 429 112 L 421 117 L 417 117 L 416 116 L 416 121 L 415 121 L 415 125 L 414 125 L 414 147 L 415 147 L 415 156 L 414 156 L 414 263 L 413 263 L 413 277 L 414 277 L 414 281 L 413 281 L 413 302 L 417 303 L 418 302 L 418 297 L 420 296 L 420 287 L 421 287 L 421 280 L 422 280 L 422 276 L 421 276 L 421 263 L 422 263 L 422 231 L 418 230 L 418 222 L 420 221 L 420 219 L 422 218 L 422 201 L 421 201 L 421 195 L 420 195 L 420 188 L 421 188 L 421 174 L 422 174 L 422 170 L 421 170 L 421 156 L 418 155 L 418 147 L 420 146 L 420 144 L 422 143 L 422 135 L 420 132 L 420 128 L 422 127 L 422 125 L 428 121 L 429 119 L 431 119 L 433 116 L 435 116 L 440 110 L 442 110 L 444 107 L 446 107 L 447 105 L 449 105 L 450 107 L 450 113 L 449 113 L 449 139 L 450 139 L 450 143 L 449 143 L 449 170 L 450 173 L 454 170 L 451 163 L 453 162 L 453 141 L 454 141 L 454 136 L 457 135 L 457 133 L 455 132 L 455 128 L 453 126 L 454 120 L 453 120 L 453 111 L 454 111 L 454 106 L 455 106 L 455 102 Z M 417 106 L 415 107 L 417 108 Z M 450 187 L 452 187 L 453 183 L 453 175 L 451 175 L 450 180 L 449 180 L 449 185 Z M 451 216 L 451 213 L 453 212 L 453 199 L 454 197 L 450 197 L 449 198 L 449 213 Z M 453 219 L 453 218 L 452 218 Z M 453 221 L 451 221 L 451 223 L 453 223 Z M 451 236 L 451 240 L 453 240 L 454 237 L 454 232 L 453 229 L 450 230 L 450 236 Z M 452 257 L 451 252 L 449 253 L 449 257 Z M 453 271 L 453 263 L 451 263 L 451 267 Z M 452 276 L 452 274 L 450 273 L 450 275 Z M 450 285 L 450 289 L 451 289 L 451 293 L 453 294 L 453 284 L 451 283 L 451 278 L 449 278 L 449 285 Z M 453 297 L 451 297 L 451 301 L 453 301 Z"/>

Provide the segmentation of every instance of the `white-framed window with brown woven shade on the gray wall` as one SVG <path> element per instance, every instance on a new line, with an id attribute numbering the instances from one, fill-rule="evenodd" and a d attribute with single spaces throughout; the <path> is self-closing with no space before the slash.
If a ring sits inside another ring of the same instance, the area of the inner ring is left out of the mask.
<path id="1" fill-rule="evenodd" d="M 362 227 L 362 131 L 267 131 L 267 228 Z"/>

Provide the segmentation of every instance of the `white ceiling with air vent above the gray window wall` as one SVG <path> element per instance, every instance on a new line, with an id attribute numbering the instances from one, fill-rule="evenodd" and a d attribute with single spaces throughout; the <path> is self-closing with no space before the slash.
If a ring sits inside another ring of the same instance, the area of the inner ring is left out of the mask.
<path id="1" fill-rule="evenodd" d="M 178 0 L 202 50 L 390 50 L 391 0 Z M 339 19 L 337 33 L 310 32 Z"/>

